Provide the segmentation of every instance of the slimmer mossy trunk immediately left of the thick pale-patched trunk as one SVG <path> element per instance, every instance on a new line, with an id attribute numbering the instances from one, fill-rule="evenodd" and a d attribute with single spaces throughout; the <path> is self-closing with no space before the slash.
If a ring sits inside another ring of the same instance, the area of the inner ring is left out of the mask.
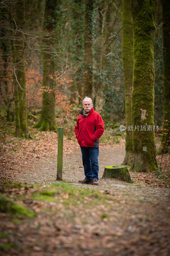
<path id="1" fill-rule="evenodd" d="M 131 0 L 123 0 L 122 17 L 122 62 L 125 80 L 126 97 L 126 127 L 132 125 L 132 83 L 133 83 L 133 19 Z M 126 155 L 123 161 L 125 165 L 133 163 L 132 131 L 126 129 Z"/>

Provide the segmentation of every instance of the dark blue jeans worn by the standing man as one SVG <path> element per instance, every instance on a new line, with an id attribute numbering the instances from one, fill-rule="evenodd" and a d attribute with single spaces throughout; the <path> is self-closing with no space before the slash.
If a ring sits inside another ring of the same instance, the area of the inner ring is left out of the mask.
<path id="1" fill-rule="evenodd" d="M 87 180 L 98 180 L 98 148 L 81 147 L 84 174 Z"/>

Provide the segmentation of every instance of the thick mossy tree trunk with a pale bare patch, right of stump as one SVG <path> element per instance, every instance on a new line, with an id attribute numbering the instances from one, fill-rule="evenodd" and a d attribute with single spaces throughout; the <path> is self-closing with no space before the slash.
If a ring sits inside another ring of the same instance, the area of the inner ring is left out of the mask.
<path id="1" fill-rule="evenodd" d="M 134 160 L 131 171 L 153 172 L 157 168 L 154 135 L 153 38 L 157 1 L 133 0 L 134 71 L 132 125 Z M 144 126 L 146 131 L 144 131 Z M 150 127 L 151 130 L 147 131 Z"/>

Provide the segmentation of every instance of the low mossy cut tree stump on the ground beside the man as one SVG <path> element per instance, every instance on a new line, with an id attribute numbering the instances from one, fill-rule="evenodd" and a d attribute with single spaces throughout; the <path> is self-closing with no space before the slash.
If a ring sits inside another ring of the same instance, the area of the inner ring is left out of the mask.
<path id="1" fill-rule="evenodd" d="M 127 183 L 133 183 L 126 165 L 110 165 L 106 166 L 102 178 L 113 178 Z"/>

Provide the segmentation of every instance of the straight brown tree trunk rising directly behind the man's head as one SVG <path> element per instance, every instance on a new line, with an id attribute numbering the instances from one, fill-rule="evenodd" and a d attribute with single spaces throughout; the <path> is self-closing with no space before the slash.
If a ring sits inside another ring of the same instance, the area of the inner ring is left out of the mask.
<path id="1" fill-rule="evenodd" d="M 92 98 L 93 93 L 93 39 L 95 0 L 85 1 L 84 29 L 84 96 Z"/>

